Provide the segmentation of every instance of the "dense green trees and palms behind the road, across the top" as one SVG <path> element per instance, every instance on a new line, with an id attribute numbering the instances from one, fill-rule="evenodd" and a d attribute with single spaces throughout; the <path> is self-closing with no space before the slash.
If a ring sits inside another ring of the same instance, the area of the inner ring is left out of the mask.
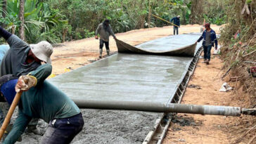
<path id="1" fill-rule="evenodd" d="M 5 4 L 4 1 L 7 1 Z M 0 0 L 0 23 L 18 34 L 19 0 Z M 6 8 L 4 8 L 6 6 Z M 110 19 L 114 32 L 162 27 L 165 20 L 181 15 L 181 24 L 225 22 L 223 2 L 218 0 L 26 0 L 25 40 L 35 43 L 46 39 L 52 43 L 94 36 L 94 31 L 105 18 Z M 200 11 L 198 11 L 200 10 Z"/>

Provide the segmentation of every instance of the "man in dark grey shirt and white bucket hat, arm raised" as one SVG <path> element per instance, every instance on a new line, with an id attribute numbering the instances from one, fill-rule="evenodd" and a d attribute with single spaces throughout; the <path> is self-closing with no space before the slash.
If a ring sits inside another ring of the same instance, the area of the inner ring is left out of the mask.
<path id="1" fill-rule="evenodd" d="M 41 65 L 41 62 L 51 64 L 51 54 L 53 47 L 47 41 L 38 44 L 27 44 L 15 34 L 11 34 L 0 27 L 0 36 L 6 39 L 10 49 L 4 55 L 0 65 L 0 76 L 13 74 L 17 77 L 28 74 Z M 27 126 L 29 132 L 41 134 L 37 129 L 38 119 L 32 119 Z"/>

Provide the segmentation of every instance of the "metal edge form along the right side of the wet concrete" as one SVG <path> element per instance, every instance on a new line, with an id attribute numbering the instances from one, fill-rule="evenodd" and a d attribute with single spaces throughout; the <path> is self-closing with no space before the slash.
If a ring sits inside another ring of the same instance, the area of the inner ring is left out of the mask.
<path id="1" fill-rule="evenodd" d="M 172 100 L 169 100 L 170 103 L 181 103 L 181 100 L 184 96 L 184 93 L 186 91 L 186 86 L 188 85 L 188 81 L 193 75 L 193 72 L 196 69 L 196 64 L 198 63 L 200 54 L 203 52 L 203 47 L 200 47 L 198 51 L 196 52 L 196 55 L 194 56 L 193 60 L 191 61 L 191 64 L 188 67 L 188 71 L 186 72 L 186 75 L 177 86 L 176 93 L 174 96 L 172 96 Z M 179 90 L 179 91 L 178 91 Z M 161 120 L 158 122 L 158 125 L 156 126 L 156 129 L 159 129 L 159 131 L 150 131 L 146 138 L 143 141 L 143 144 L 151 144 L 151 143 L 158 143 L 161 144 L 162 140 L 165 138 L 165 135 L 167 133 L 167 129 L 169 128 L 169 124 L 171 123 L 170 118 L 167 118 L 167 113 L 164 113 L 164 117 L 161 117 Z"/>

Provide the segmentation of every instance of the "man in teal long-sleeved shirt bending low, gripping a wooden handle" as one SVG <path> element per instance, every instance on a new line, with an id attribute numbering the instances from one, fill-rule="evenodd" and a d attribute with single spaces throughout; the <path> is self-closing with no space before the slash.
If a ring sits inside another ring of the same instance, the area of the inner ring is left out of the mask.
<path id="1" fill-rule="evenodd" d="M 44 64 L 30 74 L 20 76 L 17 84 L 13 81 L 8 84 L 8 81 L 1 85 L 3 94 L 14 87 L 16 92 L 23 91 L 18 104 L 18 117 L 4 144 L 15 143 L 32 118 L 44 119 L 49 123 L 41 140 L 42 144 L 70 143 L 82 131 L 84 119 L 77 105 L 56 86 L 45 81 L 51 70 L 51 65 Z M 10 100 L 10 97 L 6 100 Z"/>

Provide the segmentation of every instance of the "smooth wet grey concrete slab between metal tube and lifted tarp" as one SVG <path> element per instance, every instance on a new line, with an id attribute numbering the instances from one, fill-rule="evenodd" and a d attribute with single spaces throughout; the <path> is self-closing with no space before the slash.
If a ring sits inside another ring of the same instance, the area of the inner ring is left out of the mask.
<path id="1" fill-rule="evenodd" d="M 190 37 L 198 39 L 198 35 Z M 117 53 L 50 81 L 75 101 L 168 103 L 191 60 L 191 57 Z"/>

